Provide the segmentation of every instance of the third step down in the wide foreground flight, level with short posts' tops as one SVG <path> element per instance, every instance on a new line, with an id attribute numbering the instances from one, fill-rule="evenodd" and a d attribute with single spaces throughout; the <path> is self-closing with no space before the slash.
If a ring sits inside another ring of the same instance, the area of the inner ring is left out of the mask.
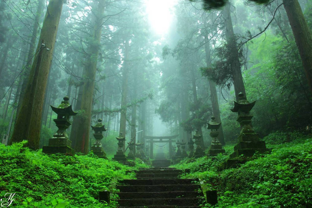
<path id="1" fill-rule="evenodd" d="M 197 191 L 166 191 L 166 192 L 119 192 L 120 199 L 166 199 L 196 198 L 201 195 Z"/>

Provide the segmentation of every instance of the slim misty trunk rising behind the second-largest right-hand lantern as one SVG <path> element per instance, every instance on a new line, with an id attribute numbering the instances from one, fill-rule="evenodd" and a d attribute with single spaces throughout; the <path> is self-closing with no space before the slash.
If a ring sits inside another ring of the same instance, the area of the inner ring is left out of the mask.
<path id="1" fill-rule="evenodd" d="M 209 41 L 207 41 L 207 36 L 205 36 L 205 52 L 206 52 L 207 67 L 210 67 L 211 66 L 211 55 L 210 55 L 210 45 L 209 45 Z M 209 83 L 209 88 L 210 88 L 210 97 L 211 97 L 213 116 L 215 116 L 216 122 L 221 122 L 216 85 L 212 80 L 208 80 L 208 83 Z M 218 139 L 222 145 L 225 145 L 222 124 L 219 128 L 219 132 L 220 133 L 219 133 Z"/>

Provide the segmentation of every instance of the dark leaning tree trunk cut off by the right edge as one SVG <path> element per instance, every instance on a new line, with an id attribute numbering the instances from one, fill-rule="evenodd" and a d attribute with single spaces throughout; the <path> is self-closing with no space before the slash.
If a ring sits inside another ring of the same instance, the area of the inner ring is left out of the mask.
<path id="1" fill-rule="evenodd" d="M 298 0 L 283 0 L 312 95 L 312 34 Z"/>

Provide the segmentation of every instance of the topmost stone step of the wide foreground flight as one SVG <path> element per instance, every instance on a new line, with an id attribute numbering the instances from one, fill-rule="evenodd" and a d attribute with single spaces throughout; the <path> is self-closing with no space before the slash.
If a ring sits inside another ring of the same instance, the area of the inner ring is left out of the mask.
<path id="1" fill-rule="evenodd" d="M 121 181 L 126 185 L 171 185 L 171 184 L 192 184 L 198 179 L 126 179 Z"/>

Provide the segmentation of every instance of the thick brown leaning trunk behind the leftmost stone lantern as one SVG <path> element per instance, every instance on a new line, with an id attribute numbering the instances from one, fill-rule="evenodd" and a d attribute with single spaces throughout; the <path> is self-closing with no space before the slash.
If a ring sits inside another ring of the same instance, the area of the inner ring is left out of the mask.
<path id="1" fill-rule="evenodd" d="M 43 99 L 62 6 L 62 0 L 50 0 L 47 7 L 37 47 L 38 55 L 32 64 L 25 96 L 11 140 L 11 142 L 19 142 L 28 139 L 27 146 L 34 150 L 39 148 Z M 42 46 L 43 42 L 45 47 Z"/>

